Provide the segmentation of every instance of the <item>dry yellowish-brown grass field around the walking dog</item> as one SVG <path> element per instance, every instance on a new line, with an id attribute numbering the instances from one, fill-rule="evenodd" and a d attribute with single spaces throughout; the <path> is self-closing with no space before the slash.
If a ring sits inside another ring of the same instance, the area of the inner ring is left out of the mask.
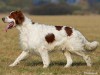
<path id="1" fill-rule="evenodd" d="M 0 14 L 0 18 L 6 16 Z M 89 16 L 29 16 L 34 22 L 50 25 L 72 26 L 83 33 L 89 41 L 100 42 L 100 15 Z M 33 55 L 21 61 L 16 67 L 9 67 L 21 53 L 19 45 L 19 32 L 17 29 L 4 31 L 6 24 L 0 19 L 0 75 L 100 75 L 100 47 L 89 53 L 93 61 L 92 67 L 87 67 L 83 59 L 73 56 L 73 66 L 63 68 L 66 64 L 62 53 L 50 53 L 51 64 L 49 68 L 42 68 L 41 58 Z"/>

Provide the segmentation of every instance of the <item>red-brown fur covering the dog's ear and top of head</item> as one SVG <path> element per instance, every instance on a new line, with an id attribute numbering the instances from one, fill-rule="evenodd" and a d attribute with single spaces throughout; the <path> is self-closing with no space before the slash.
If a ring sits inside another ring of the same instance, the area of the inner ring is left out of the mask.
<path id="1" fill-rule="evenodd" d="M 15 19 L 16 24 L 22 24 L 24 21 L 24 15 L 21 11 L 14 11 L 9 15 L 9 18 Z"/>

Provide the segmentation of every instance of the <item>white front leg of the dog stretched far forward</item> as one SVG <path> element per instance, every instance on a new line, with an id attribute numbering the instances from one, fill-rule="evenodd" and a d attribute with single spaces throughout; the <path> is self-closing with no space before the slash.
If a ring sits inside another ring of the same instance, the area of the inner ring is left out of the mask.
<path id="1" fill-rule="evenodd" d="M 12 63 L 11 65 L 9 65 L 10 67 L 16 66 L 21 60 L 23 60 L 29 53 L 27 51 L 23 51 L 18 58 L 14 61 L 14 63 Z"/>

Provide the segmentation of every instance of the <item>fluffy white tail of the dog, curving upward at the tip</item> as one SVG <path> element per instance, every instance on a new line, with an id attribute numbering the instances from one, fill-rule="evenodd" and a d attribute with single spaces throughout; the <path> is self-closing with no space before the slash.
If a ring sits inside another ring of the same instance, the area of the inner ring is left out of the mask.
<path id="1" fill-rule="evenodd" d="M 99 42 L 97 42 L 97 41 L 93 41 L 93 42 L 88 42 L 87 41 L 87 43 L 85 44 L 85 49 L 87 51 L 94 51 L 94 50 L 96 50 L 98 45 L 99 45 Z"/>

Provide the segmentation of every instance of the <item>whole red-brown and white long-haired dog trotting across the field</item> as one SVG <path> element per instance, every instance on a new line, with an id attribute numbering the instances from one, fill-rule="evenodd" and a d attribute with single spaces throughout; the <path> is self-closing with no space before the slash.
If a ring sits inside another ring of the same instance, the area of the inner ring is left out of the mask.
<path id="1" fill-rule="evenodd" d="M 43 68 L 46 68 L 50 64 L 48 52 L 53 50 L 61 50 L 64 53 L 67 59 L 65 67 L 72 65 L 71 53 L 82 56 L 87 66 L 91 66 L 90 57 L 85 53 L 95 50 L 99 43 L 97 41 L 88 42 L 78 30 L 67 26 L 33 23 L 21 11 L 13 11 L 2 20 L 9 23 L 6 31 L 13 27 L 20 31 L 20 43 L 23 52 L 10 66 L 16 66 L 30 52 L 34 52 L 41 56 Z"/>

